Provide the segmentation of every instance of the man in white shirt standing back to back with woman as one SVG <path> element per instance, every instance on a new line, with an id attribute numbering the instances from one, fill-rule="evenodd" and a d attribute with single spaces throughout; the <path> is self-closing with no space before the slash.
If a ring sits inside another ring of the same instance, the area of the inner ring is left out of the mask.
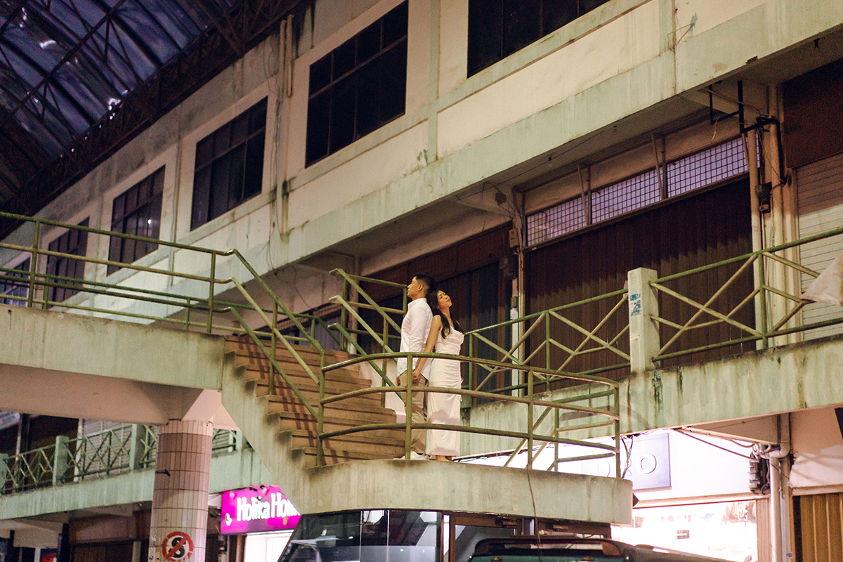
<path id="1" fill-rule="evenodd" d="M 401 345 L 399 348 L 401 353 L 424 351 L 424 345 L 427 342 L 427 335 L 430 333 L 430 324 L 433 319 L 433 313 L 427 304 L 427 293 L 431 291 L 436 291 L 436 281 L 431 276 L 421 273 L 413 276 L 413 280 L 407 285 L 407 297 L 410 297 L 412 300 L 407 303 L 407 313 L 401 322 Z M 414 357 L 414 367 L 417 362 L 418 358 Z M 430 372 L 431 362 L 426 361 L 425 366 L 421 370 L 421 376 L 418 377 L 418 380 L 413 381 L 414 385 L 427 386 L 427 373 Z M 398 372 L 400 373 L 398 384 L 399 386 L 405 386 L 407 376 L 406 356 L 398 358 Z M 412 422 L 418 424 L 427 423 L 427 393 L 413 393 L 412 401 Z M 425 456 L 426 436 L 427 430 L 414 429 L 412 431 L 411 458 L 427 458 Z"/>

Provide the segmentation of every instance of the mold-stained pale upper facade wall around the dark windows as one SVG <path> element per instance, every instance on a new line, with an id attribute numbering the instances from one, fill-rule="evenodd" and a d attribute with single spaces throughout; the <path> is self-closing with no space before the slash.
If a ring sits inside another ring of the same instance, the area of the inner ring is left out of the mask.
<path id="1" fill-rule="evenodd" d="M 797 0 L 684 0 L 676 3 L 675 14 L 669 0 L 612 0 L 466 77 L 468 0 L 408 2 L 407 98 L 399 119 L 305 168 L 310 64 L 399 3 L 317 0 L 313 29 L 309 14 L 304 16 L 291 97 L 279 95 L 286 87 L 279 72 L 286 56 L 279 33 L 40 216 L 66 222 L 90 217 L 91 226 L 107 228 L 114 196 L 164 165 L 162 238 L 240 249 L 263 274 L 699 87 L 733 70 L 738 59 L 745 64 L 749 51 L 764 56 L 843 19 L 843 5 L 831 0 L 817 0 L 822 9 L 813 10 L 811 18 L 798 9 Z M 748 34 L 744 28 L 754 30 Z M 675 47 L 674 40 L 679 41 Z M 260 195 L 191 231 L 196 142 L 265 96 Z M 285 180 L 288 194 L 277 198 Z M 23 229 L 9 239 L 25 239 L 25 234 Z M 89 255 L 107 255 L 105 238 L 93 238 L 101 239 L 89 241 Z M 142 265 L 169 263 L 194 273 L 209 269 L 207 256 L 186 251 L 170 256 L 159 249 L 141 260 Z M 242 273 L 231 261 L 217 265 L 217 276 Z M 94 266 L 88 274 L 105 277 L 104 268 Z M 112 279 L 127 276 L 121 271 Z M 153 283 L 144 276 L 126 282 Z"/>

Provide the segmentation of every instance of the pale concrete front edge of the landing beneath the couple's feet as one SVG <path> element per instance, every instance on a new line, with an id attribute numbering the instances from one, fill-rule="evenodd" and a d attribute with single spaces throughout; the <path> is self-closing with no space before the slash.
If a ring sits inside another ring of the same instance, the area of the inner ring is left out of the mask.
<path id="1" fill-rule="evenodd" d="M 377 508 L 632 522 L 632 483 L 624 479 L 407 460 L 341 463 L 305 474 L 307 500 L 299 510 L 307 513 Z"/>

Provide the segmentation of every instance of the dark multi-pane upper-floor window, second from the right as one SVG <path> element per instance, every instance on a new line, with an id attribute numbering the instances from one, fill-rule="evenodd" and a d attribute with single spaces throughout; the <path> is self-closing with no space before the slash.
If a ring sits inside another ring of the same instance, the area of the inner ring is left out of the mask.
<path id="1" fill-rule="evenodd" d="M 310 65 L 306 163 L 404 115 L 407 3 Z"/>

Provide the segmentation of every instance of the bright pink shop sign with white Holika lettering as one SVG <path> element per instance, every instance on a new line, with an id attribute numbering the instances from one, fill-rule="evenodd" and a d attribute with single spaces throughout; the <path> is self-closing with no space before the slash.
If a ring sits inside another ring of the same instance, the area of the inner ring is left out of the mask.
<path id="1" fill-rule="evenodd" d="M 266 533 L 296 527 L 301 514 L 277 486 L 223 492 L 223 534 Z"/>

